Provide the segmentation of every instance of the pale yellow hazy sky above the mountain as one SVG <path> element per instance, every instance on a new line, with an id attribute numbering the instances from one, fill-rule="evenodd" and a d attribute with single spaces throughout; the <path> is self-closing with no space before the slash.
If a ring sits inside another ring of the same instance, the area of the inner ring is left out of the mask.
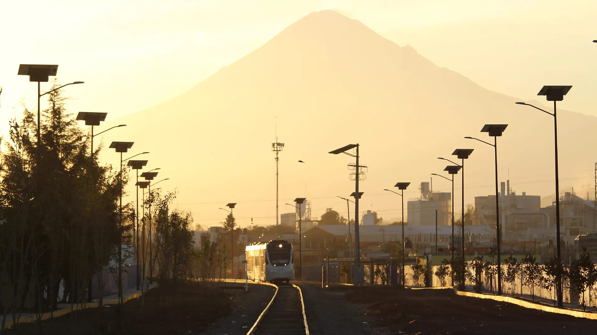
<path id="1" fill-rule="evenodd" d="M 0 132 L 20 101 L 35 108 L 20 63 L 59 64 L 61 83 L 86 82 L 67 88 L 70 110 L 115 119 L 176 97 L 324 9 L 493 91 L 531 100 L 542 85 L 574 85 L 560 106 L 597 116 L 596 1 L 0 0 Z"/>

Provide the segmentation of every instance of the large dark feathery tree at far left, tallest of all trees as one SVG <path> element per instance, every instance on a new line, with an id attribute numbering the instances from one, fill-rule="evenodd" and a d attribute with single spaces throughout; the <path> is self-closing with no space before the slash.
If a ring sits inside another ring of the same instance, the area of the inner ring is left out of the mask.
<path id="1" fill-rule="evenodd" d="M 0 275 L 7 283 L 3 289 L 11 287 L 13 313 L 30 302 L 39 316 L 56 308 L 60 283 L 64 302 L 90 299 L 91 278 L 106 268 L 127 234 L 116 215 L 119 180 L 127 176 L 90 157 L 90 137 L 66 101 L 60 90 L 48 94 L 40 141 L 36 114 L 24 108 L 21 120 L 10 120 L 1 153 Z"/>

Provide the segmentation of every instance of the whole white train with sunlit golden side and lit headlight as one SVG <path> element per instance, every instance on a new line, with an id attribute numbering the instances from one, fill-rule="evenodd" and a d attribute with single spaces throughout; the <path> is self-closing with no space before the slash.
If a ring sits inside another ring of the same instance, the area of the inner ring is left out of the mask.
<path id="1" fill-rule="evenodd" d="M 249 280 L 289 283 L 294 280 L 293 244 L 285 240 L 251 243 L 245 247 Z"/>

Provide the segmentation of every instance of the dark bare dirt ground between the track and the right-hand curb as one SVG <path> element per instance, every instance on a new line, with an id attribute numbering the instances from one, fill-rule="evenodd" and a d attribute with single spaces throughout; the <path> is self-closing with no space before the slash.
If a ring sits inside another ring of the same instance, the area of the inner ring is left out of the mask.
<path id="1" fill-rule="evenodd" d="M 451 289 L 340 287 L 367 305 L 373 327 L 387 334 L 595 334 L 597 321 L 527 309 Z"/>

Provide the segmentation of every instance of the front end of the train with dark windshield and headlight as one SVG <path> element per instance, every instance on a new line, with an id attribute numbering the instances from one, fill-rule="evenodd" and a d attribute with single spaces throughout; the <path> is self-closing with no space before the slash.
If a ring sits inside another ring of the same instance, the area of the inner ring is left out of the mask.
<path id="1" fill-rule="evenodd" d="M 293 244 L 285 240 L 269 241 L 266 245 L 266 281 L 294 280 Z"/>

